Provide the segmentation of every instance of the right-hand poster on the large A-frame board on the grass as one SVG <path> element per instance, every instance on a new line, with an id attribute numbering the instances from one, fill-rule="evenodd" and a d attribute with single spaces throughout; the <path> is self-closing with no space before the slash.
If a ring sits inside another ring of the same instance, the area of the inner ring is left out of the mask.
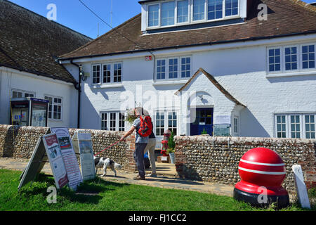
<path id="1" fill-rule="evenodd" d="M 77 186 L 81 184 L 82 177 L 77 161 L 76 154 L 72 148 L 70 134 L 67 127 L 51 127 L 51 132 L 55 133 L 60 146 L 62 159 L 64 160 L 69 186 L 72 190 L 77 190 Z"/>

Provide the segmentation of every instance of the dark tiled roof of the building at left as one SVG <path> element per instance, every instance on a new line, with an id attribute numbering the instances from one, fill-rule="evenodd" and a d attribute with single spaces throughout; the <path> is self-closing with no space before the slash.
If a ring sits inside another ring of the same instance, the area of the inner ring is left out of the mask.
<path id="1" fill-rule="evenodd" d="M 0 27 L 0 66 L 77 83 L 55 59 L 91 38 L 6 0 L 0 0 Z"/>

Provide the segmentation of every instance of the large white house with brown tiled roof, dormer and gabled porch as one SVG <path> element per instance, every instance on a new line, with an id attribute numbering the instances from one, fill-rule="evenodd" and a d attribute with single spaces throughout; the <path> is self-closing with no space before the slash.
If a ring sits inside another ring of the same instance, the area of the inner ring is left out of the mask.
<path id="1" fill-rule="evenodd" d="M 262 3 L 267 20 L 257 17 Z M 143 105 L 159 137 L 168 128 L 177 135 L 205 129 L 315 139 L 314 6 L 291 0 L 140 4 L 140 15 L 60 58 L 77 82 L 71 63 L 84 72 L 81 128 L 126 130 L 126 108 Z"/>

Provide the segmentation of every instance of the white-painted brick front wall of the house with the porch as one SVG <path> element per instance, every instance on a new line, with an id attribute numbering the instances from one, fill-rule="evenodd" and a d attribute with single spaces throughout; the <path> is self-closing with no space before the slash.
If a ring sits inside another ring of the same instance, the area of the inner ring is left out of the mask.
<path id="1" fill-rule="evenodd" d="M 199 68 L 209 72 L 216 80 L 246 108 L 235 108 L 235 103 L 228 100 L 216 89 L 205 76 L 199 76 L 190 85 L 192 91 L 206 91 L 213 97 L 214 115 L 232 112 L 239 117 L 239 136 L 274 136 L 273 113 L 314 112 L 316 113 L 316 70 L 308 75 L 267 77 L 267 46 L 275 44 L 314 43 L 315 36 L 287 37 L 263 41 L 249 41 L 220 46 L 192 47 L 154 52 L 156 58 L 171 56 L 192 56 L 192 74 Z M 229 47 L 229 49 L 226 47 Z M 100 113 L 124 110 L 129 99 L 133 102 L 149 103 L 156 110 L 174 108 L 180 110 L 186 103 L 176 100 L 161 104 L 162 96 L 169 91 L 180 89 L 185 82 L 169 82 L 172 85 L 157 85 L 153 81 L 154 60 L 146 61 L 145 54 L 122 54 L 77 60 L 84 65 L 84 71 L 91 76 L 84 82 L 81 96 L 81 128 L 100 129 Z M 91 60 L 95 60 L 91 62 Z M 91 86 L 93 63 L 122 62 L 121 86 Z M 66 64 L 68 67 L 68 65 Z M 74 70 L 72 72 L 77 72 Z M 150 94 L 155 99 L 145 99 Z M 141 98 L 140 96 L 143 96 Z M 172 96 L 172 98 L 175 98 Z M 157 106 L 155 106 L 157 105 Z M 145 107 L 145 105 L 144 105 Z M 150 108 L 150 107 L 149 107 Z M 180 121 L 179 121 L 180 123 Z M 185 124 L 179 124 L 183 134 L 189 134 Z"/>

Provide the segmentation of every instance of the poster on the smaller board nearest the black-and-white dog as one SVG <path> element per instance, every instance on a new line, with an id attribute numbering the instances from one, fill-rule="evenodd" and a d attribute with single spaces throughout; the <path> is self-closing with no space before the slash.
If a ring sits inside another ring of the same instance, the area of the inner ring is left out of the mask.
<path id="1" fill-rule="evenodd" d="M 91 134 L 83 131 L 76 131 L 72 136 L 74 152 L 80 155 L 81 174 L 84 181 L 96 177 L 96 169 L 93 160 L 93 148 Z"/>

